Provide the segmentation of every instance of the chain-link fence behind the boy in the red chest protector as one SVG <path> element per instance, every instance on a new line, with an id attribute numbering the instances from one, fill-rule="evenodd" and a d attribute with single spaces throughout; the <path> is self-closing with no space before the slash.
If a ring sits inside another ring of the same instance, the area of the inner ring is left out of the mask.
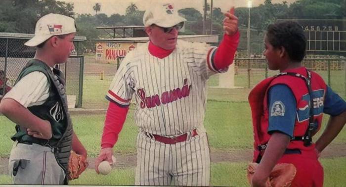
<path id="1" fill-rule="evenodd" d="M 346 58 L 306 58 L 303 66 L 317 72 L 340 96 L 346 97 Z M 251 88 L 260 80 L 276 75 L 263 58 L 235 59 L 235 86 Z"/>

